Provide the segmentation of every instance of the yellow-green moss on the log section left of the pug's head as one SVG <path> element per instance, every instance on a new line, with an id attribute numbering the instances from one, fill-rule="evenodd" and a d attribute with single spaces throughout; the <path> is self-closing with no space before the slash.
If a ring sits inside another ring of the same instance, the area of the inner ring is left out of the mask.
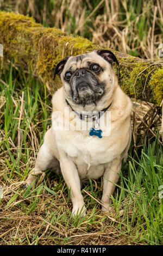
<path id="1" fill-rule="evenodd" d="M 0 11 L 0 16 L 4 56 L 33 69 L 35 75 L 40 75 L 43 82 L 52 88 L 53 69 L 63 57 L 95 48 L 95 44 L 87 39 L 67 36 L 57 28 L 43 28 L 32 18 L 3 11 Z M 59 81 L 55 86 L 60 86 Z"/>

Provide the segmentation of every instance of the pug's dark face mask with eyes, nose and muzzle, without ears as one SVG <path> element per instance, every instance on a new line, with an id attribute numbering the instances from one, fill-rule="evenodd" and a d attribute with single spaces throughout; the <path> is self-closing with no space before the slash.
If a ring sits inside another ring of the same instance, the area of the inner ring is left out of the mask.
<path id="1" fill-rule="evenodd" d="M 102 67 L 97 63 L 86 62 L 75 70 L 78 62 L 82 64 L 82 58 L 84 55 L 73 57 L 75 63 L 66 70 L 64 80 L 71 87 L 73 101 L 77 104 L 89 105 L 92 102 L 96 103 L 102 97 L 105 86 L 98 78 Z"/>

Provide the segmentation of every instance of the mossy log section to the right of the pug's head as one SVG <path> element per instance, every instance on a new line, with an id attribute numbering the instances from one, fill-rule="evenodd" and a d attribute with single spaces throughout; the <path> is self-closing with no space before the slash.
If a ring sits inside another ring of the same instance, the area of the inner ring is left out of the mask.
<path id="1" fill-rule="evenodd" d="M 151 65 L 149 62 L 143 63 L 142 61 L 129 62 L 125 68 L 120 70 L 120 85 L 130 97 L 136 96 L 136 99 L 147 100 L 159 105 L 163 95 L 161 71 L 159 64 Z"/>

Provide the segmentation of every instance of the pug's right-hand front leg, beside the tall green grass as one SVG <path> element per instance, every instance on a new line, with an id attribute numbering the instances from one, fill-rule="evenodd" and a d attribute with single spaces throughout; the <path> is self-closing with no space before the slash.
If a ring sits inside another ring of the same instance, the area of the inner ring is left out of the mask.
<path id="1" fill-rule="evenodd" d="M 114 193 L 115 186 L 118 179 L 120 178 L 122 158 L 117 157 L 111 163 L 108 163 L 106 166 L 104 175 L 103 175 L 103 196 L 102 196 L 102 211 L 109 211 L 111 199 L 109 198 L 111 194 Z M 111 182 L 110 182 L 111 181 Z M 113 184 L 114 183 L 114 184 Z"/>

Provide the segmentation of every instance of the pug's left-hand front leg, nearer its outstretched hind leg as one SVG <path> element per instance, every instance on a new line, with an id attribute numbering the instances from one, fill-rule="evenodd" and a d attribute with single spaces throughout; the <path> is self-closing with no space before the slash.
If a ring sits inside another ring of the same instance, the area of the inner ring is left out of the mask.
<path id="1" fill-rule="evenodd" d="M 80 187 L 80 178 L 76 165 L 68 159 L 68 157 L 64 157 L 64 159 L 60 159 L 60 168 L 66 184 L 71 190 L 71 200 L 73 204 L 72 214 L 79 214 L 83 208 L 82 215 L 85 215 L 86 208 L 84 206 L 84 199 Z"/>

